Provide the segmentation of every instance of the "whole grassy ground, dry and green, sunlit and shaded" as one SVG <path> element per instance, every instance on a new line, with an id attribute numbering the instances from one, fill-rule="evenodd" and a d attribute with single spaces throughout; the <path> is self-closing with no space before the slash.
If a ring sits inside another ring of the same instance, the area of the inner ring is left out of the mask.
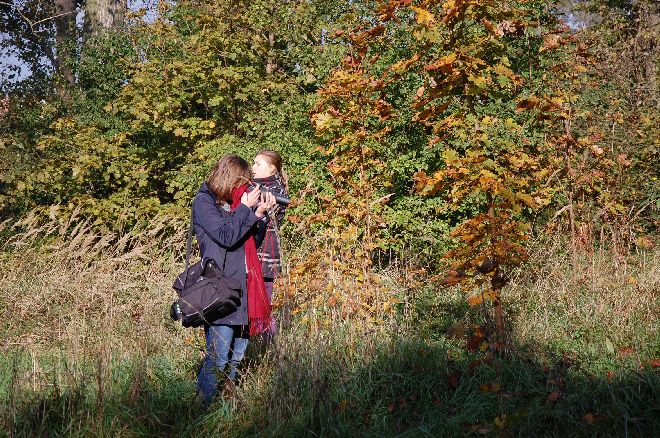
<path id="1" fill-rule="evenodd" d="M 660 436 L 658 251 L 571 269 L 544 245 L 505 290 L 506 352 L 486 308 L 389 273 L 402 303 L 384 323 L 287 318 L 251 344 L 236 397 L 200 411 L 201 333 L 168 318 L 184 237 L 155 240 L 5 245 L 0 435 Z"/>

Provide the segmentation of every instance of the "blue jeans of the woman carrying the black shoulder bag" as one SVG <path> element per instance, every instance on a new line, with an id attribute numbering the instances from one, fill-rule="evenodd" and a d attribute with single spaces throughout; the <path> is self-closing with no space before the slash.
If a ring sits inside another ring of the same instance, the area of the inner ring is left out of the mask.
<path id="1" fill-rule="evenodd" d="M 212 325 L 206 334 L 206 359 L 197 377 L 197 389 L 208 406 L 218 392 L 218 376 L 236 379 L 238 365 L 245 356 L 248 339 L 240 336 L 240 326 Z M 233 341 L 233 345 L 232 345 Z M 225 367 L 229 363 L 229 371 Z"/>

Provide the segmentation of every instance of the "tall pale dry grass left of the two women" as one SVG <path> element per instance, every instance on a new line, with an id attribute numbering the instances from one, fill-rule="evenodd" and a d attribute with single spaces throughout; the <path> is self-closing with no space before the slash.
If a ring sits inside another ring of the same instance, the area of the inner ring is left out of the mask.
<path id="1" fill-rule="evenodd" d="M 81 355 L 173 347 L 163 322 L 185 225 L 157 217 L 146 229 L 101 235 L 74 212 L 63 222 L 28 216 L 15 227 L 25 231 L 0 256 L 0 346 Z"/>

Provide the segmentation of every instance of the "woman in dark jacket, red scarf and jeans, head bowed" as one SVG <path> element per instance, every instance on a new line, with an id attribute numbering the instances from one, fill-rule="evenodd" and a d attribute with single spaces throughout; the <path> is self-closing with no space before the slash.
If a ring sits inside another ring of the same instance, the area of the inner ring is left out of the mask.
<path id="1" fill-rule="evenodd" d="M 247 161 L 226 155 L 193 200 L 193 227 L 202 257 L 213 258 L 224 267 L 225 276 L 241 282 L 243 290 L 241 305 L 234 313 L 204 327 L 206 358 L 197 378 L 197 401 L 203 406 L 213 401 L 218 375 L 227 364 L 226 389 L 233 391 L 249 332 L 270 323 L 270 301 L 256 246 L 265 234 L 266 212 L 275 205 L 275 198 L 270 193 L 262 195 L 258 188 L 248 192 L 250 177 Z"/>

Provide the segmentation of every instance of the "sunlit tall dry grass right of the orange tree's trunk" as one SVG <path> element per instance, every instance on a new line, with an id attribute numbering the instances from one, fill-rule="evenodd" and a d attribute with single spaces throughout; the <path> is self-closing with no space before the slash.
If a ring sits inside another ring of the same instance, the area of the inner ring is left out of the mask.
<path id="1" fill-rule="evenodd" d="M 565 243 L 544 240 L 504 295 L 518 343 L 563 345 L 594 357 L 660 357 L 660 251 L 623 259 L 583 251 L 575 266 Z"/>

